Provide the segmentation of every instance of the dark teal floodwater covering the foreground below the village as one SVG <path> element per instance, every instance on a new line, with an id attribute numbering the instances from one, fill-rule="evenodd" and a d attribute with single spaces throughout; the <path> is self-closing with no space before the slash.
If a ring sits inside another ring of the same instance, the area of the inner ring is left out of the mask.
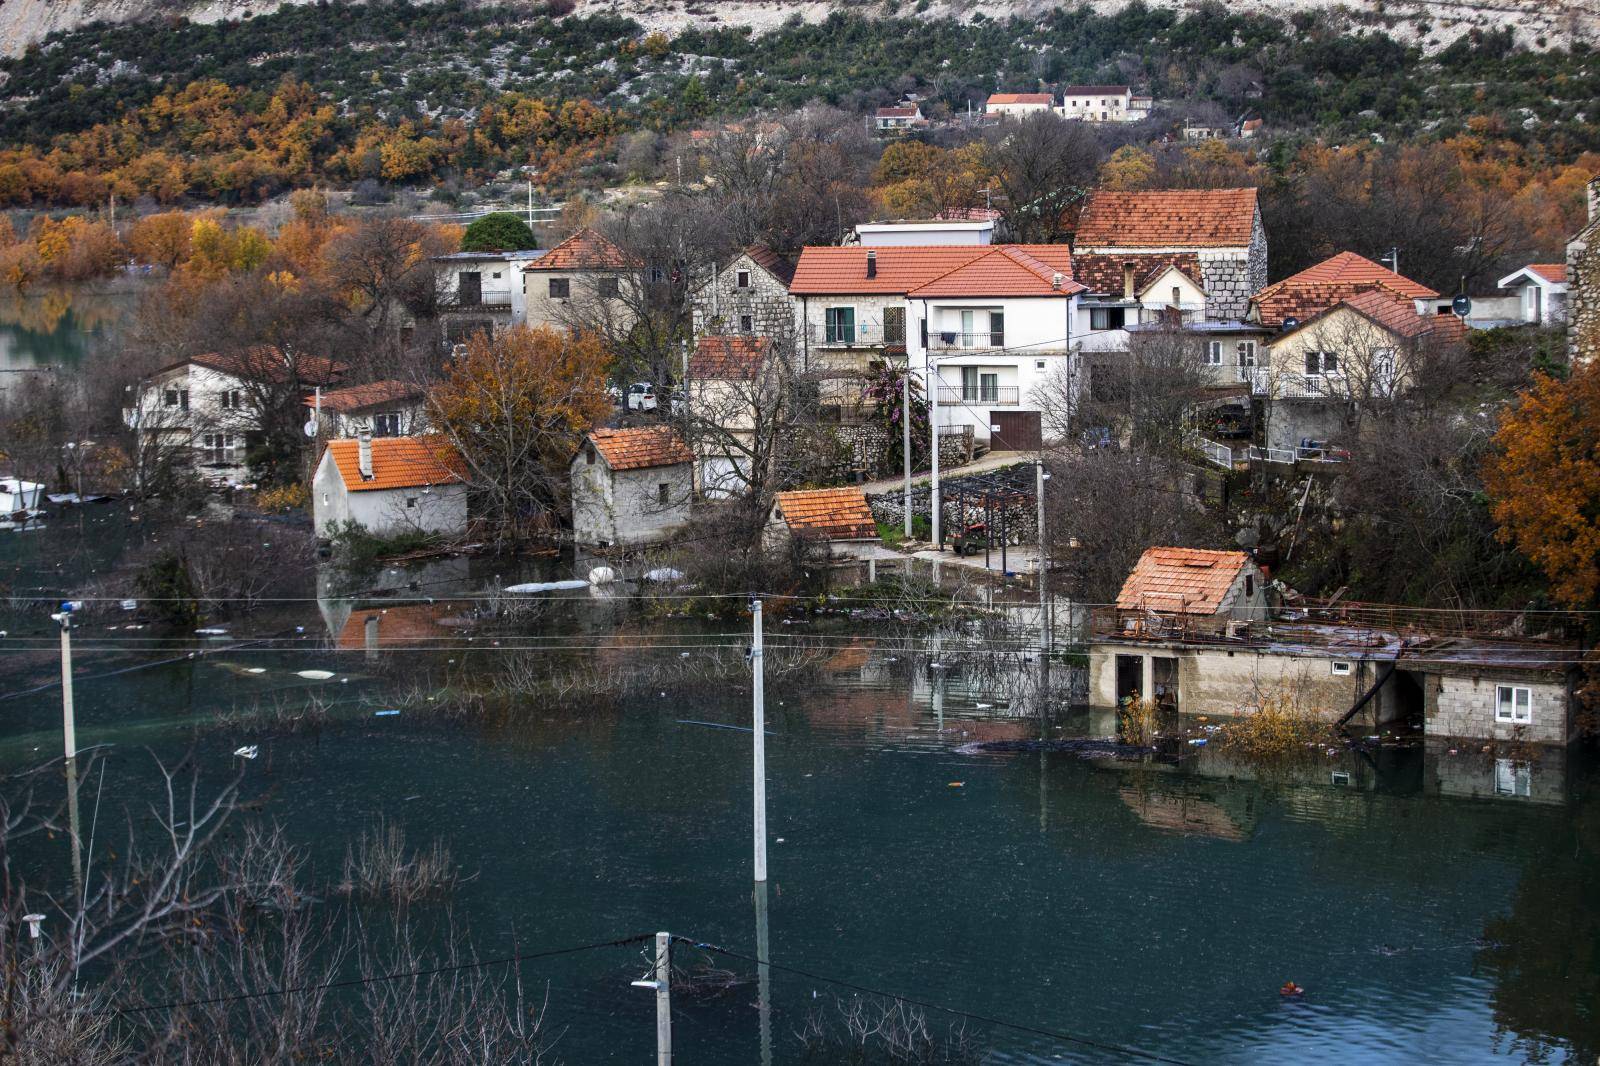
<path id="1" fill-rule="evenodd" d="M 451 579 L 437 573 L 419 587 Z M 440 595 L 488 584 L 472 568 L 454 578 Z M 754 957 L 750 735 L 717 728 L 749 725 L 746 682 L 574 693 L 470 723 L 426 701 L 376 714 L 512 656 L 638 674 L 747 642 L 739 623 L 618 627 L 605 599 L 565 595 L 493 635 L 456 624 L 482 605 L 467 599 L 282 603 L 211 642 L 101 615 L 78 635 L 78 743 L 109 746 L 104 783 L 85 787 L 138 807 L 152 755 L 194 749 L 222 781 L 234 747 L 256 743 L 254 816 L 282 821 L 326 876 L 376 815 L 413 842 L 443 837 L 470 874 L 454 919 L 483 956 L 667 930 Z M 22 605 L 6 623 L 0 696 L 50 682 L 43 615 Z M 773 624 L 774 655 L 800 629 Z M 267 635 L 280 642 L 245 647 Z M 818 671 L 768 698 L 770 1052 L 754 965 L 725 956 L 715 965 L 739 984 L 675 1004 L 682 1061 L 827 1061 L 805 1060 L 795 1034 L 848 986 L 966 1012 L 990 1063 L 1114 1061 L 1112 1045 L 1189 1063 L 1595 1061 L 1600 791 L 1582 759 L 1496 795 L 1493 765 L 1448 751 L 1267 778 L 1214 752 L 1176 765 L 974 754 L 973 741 L 1040 735 L 1005 714 L 1005 671 L 947 650 L 957 667 L 930 669 L 922 642 L 861 621 L 813 642 Z M 162 664 L 102 675 L 147 663 Z M 312 695 L 330 707 L 320 731 L 216 727 L 232 707 Z M 0 711 L 5 768 L 59 749 L 58 690 Z M 1046 731 L 1107 728 L 1074 712 Z M 66 877 L 67 860 L 58 842 L 37 861 Z M 629 986 L 645 968 L 637 944 L 523 964 L 549 989 L 563 1061 L 648 1061 L 653 999 Z M 1301 999 L 1278 994 L 1290 980 Z"/>

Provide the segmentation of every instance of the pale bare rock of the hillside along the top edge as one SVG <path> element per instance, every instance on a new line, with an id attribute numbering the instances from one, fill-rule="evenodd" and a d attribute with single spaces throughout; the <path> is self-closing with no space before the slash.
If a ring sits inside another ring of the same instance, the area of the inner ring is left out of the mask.
<path id="1" fill-rule="evenodd" d="M 187 18 L 195 22 L 248 19 L 277 11 L 290 3 L 318 0 L 0 0 L 0 53 L 18 54 L 50 34 L 88 22 L 130 22 L 139 19 Z M 325 2 L 325 0 L 323 0 Z M 1147 0 L 1152 8 L 1187 11 L 1194 0 Z M 530 2 L 530 10 L 546 3 Z M 909 14 L 912 5 L 896 0 L 877 3 L 822 3 L 819 0 L 578 0 L 579 14 L 616 14 L 646 29 L 678 32 L 707 26 L 749 26 L 757 32 L 778 29 L 800 18 L 819 22 L 837 8 L 859 14 Z M 1043 0 L 915 0 L 915 13 L 931 18 L 1040 16 L 1061 5 Z M 1125 0 L 1088 0 L 1086 6 L 1110 13 Z M 1382 27 L 1390 37 L 1419 43 L 1426 51 L 1450 45 L 1478 30 L 1510 29 L 1528 48 L 1565 48 L 1574 42 L 1600 42 L 1600 10 L 1581 0 L 1232 0 L 1235 13 L 1288 16 L 1310 10 L 1342 10 L 1355 24 Z"/>

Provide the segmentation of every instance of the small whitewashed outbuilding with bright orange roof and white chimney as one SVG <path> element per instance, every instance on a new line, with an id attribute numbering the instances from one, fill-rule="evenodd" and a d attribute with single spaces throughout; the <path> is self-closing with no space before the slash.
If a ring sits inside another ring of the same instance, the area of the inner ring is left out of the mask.
<path id="1" fill-rule="evenodd" d="M 438 435 L 333 440 L 312 479 L 312 515 L 317 536 L 350 523 L 379 536 L 466 533 L 459 456 Z"/>

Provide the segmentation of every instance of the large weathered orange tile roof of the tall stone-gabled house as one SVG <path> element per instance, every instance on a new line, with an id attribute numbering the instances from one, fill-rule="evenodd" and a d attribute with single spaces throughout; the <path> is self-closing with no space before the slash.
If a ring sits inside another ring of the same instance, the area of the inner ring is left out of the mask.
<path id="1" fill-rule="evenodd" d="M 1245 248 L 1256 221 L 1254 189 L 1091 192 L 1074 246 Z"/>

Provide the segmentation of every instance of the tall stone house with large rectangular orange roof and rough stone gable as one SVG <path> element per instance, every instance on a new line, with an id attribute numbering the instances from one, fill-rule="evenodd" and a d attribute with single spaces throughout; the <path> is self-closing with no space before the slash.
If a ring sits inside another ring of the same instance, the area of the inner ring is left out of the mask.
<path id="1" fill-rule="evenodd" d="M 1243 319 L 1267 283 L 1267 234 L 1254 189 L 1091 192 L 1072 240 L 1075 254 L 1194 254 L 1206 314 Z"/>

